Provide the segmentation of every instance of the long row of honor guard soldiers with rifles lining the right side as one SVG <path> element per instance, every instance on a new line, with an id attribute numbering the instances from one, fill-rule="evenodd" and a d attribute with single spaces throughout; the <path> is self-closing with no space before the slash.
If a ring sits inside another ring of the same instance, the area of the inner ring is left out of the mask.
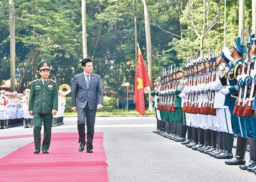
<path id="1" fill-rule="evenodd" d="M 154 133 L 256 174 L 256 36 L 249 32 L 247 45 L 238 37 L 231 50 L 216 55 L 214 49 L 212 56 L 208 50 L 187 59 L 185 68 L 165 68 L 151 95 Z"/>

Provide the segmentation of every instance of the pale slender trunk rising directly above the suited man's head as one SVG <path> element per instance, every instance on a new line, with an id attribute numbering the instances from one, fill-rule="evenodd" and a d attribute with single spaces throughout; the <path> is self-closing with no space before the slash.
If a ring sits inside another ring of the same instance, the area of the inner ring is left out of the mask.
<path id="1" fill-rule="evenodd" d="M 83 36 L 83 58 L 87 58 L 87 37 L 86 37 L 86 0 L 82 0 L 82 36 Z"/>

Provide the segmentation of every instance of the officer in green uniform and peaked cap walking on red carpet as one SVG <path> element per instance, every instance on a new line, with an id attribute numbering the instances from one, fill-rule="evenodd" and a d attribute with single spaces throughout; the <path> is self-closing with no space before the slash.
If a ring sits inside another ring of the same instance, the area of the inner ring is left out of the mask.
<path id="1" fill-rule="evenodd" d="M 42 120 L 44 120 L 42 152 L 49 153 L 52 119 L 58 110 L 58 87 L 54 80 L 48 78 L 50 67 L 50 63 L 46 61 L 38 64 L 37 70 L 41 78 L 33 80 L 30 88 L 29 115 L 34 116 L 34 154 L 40 153 Z"/>

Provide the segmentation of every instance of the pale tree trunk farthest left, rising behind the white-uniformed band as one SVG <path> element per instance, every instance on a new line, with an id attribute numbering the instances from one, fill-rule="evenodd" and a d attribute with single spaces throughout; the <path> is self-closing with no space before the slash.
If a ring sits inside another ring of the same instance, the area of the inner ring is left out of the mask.
<path id="1" fill-rule="evenodd" d="M 9 0 L 11 92 L 15 91 L 15 16 L 13 0 Z"/>

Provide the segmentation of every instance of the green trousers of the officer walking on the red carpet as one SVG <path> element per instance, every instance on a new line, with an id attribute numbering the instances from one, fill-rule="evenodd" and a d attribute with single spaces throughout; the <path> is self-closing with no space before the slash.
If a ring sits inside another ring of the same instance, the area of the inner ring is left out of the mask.
<path id="1" fill-rule="evenodd" d="M 51 142 L 52 133 L 52 114 L 33 114 L 34 115 L 34 145 L 35 149 L 41 147 L 41 128 L 42 119 L 44 120 L 44 140 L 42 143 L 42 150 L 48 150 Z"/>

